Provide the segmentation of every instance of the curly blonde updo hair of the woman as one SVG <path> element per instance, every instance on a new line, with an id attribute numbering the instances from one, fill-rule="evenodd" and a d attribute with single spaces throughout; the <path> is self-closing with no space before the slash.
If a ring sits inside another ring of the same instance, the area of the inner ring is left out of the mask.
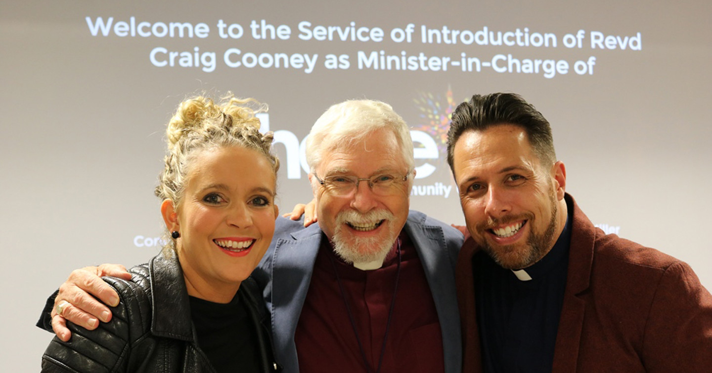
<path id="1" fill-rule="evenodd" d="M 272 153 L 272 132 L 259 132 L 256 113 L 266 112 L 266 105 L 255 99 L 239 99 L 232 94 L 220 102 L 204 96 L 192 97 L 179 104 L 168 122 L 168 149 L 164 171 L 158 176 L 155 194 L 161 200 L 172 200 L 177 208 L 183 198 L 186 178 L 192 160 L 210 148 L 241 146 L 262 153 L 270 161 L 276 175 L 279 160 Z M 175 239 L 166 229 L 164 249 L 175 250 Z"/>

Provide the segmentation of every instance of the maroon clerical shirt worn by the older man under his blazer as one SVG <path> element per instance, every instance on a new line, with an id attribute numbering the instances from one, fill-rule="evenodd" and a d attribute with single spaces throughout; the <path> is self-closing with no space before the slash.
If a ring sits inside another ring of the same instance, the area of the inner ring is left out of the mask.
<path id="1" fill-rule="evenodd" d="M 400 239 L 401 269 L 381 372 L 444 372 L 442 335 L 430 287 L 413 243 L 404 232 Z M 395 248 L 380 269 L 361 271 L 339 259 L 322 237 L 294 337 L 300 372 L 376 371 L 396 283 Z M 332 262 L 370 368 L 365 367 Z"/>

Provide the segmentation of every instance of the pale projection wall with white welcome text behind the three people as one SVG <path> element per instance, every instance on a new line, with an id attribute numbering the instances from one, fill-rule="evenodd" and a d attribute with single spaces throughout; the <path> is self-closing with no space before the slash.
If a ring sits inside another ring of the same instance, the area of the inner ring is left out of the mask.
<path id="1" fill-rule="evenodd" d="M 688 261 L 712 287 L 709 1 L 3 1 L 3 369 L 78 266 L 139 264 L 162 232 L 164 123 L 187 94 L 270 105 L 281 209 L 310 199 L 303 139 L 330 104 L 389 102 L 412 129 L 412 207 L 462 223 L 447 114 L 518 92 L 547 117 L 593 222 Z M 172 23 L 178 23 L 172 24 Z"/>

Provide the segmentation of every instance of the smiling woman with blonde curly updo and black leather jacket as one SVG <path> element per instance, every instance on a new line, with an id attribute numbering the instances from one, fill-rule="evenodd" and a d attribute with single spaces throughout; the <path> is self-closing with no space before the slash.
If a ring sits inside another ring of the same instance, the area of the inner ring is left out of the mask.
<path id="1" fill-rule="evenodd" d="M 256 105 L 256 106 L 255 106 Z M 256 109 L 251 109 L 256 107 Z M 269 316 L 249 276 L 272 239 L 278 207 L 273 136 L 253 99 L 182 102 L 167 125 L 155 193 L 167 244 L 132 279 L 95 330 L 68 324 L 43 372 L 273 372 Z"/>

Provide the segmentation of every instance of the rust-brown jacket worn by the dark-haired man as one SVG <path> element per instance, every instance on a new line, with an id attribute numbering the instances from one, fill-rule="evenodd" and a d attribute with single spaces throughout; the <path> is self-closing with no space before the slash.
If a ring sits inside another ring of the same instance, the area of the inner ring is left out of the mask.
<path id="1" fill-rule="evenodd" d="M 712 296 L 689 265 L 604 234 L 573 205 L 554 373 L 712 372 Z M 468 239 L 456 278 L 463 372 L 482 372 Z"/>

